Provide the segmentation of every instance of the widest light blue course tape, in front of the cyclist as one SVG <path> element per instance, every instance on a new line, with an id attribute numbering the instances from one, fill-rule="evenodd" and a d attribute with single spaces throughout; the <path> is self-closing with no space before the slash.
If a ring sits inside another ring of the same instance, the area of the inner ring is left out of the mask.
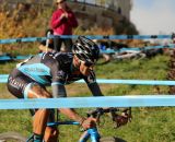
<path id="1" fill-rule="evenodd" d="M 0 109 L 175 106 L 173 95 L 0 99 Z"/>

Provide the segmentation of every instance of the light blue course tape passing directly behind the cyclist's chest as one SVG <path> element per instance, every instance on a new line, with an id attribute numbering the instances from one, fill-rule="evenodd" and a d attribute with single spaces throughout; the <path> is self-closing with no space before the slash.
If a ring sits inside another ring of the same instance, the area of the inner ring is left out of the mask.
<path id="1" fill-rule="evenodd" d="M 0 74 L 0 83 L 7 83 L 8 74 Z M 153 80 L 105 80 L 97 79 L 97 83 L 104 84 L 136 84 L 136 85 L 175 85 L 175 81 L 153 81 Z M 75 83 L 85 83 L 83 80 Z"/>

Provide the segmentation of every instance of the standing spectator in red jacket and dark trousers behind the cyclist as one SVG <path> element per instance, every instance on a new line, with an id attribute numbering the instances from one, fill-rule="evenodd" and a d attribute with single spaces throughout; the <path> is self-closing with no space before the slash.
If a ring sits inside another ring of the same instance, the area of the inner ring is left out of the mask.
<path id="1" fill-rule="evenodd" d="M 60 38 L 59 35 L 72 35 L 72 29 L 78 26 L 78 21 L 74 13 L 68 7 L 66 0 L 57 0 L 57 10 L 52 13 L 50 26 L 54 31 L 56 38 L 55 50 L 60 51 L 62 43 L 65 44 L 66 51 L 71 51 L 72 39 L 71 38 Z"/>

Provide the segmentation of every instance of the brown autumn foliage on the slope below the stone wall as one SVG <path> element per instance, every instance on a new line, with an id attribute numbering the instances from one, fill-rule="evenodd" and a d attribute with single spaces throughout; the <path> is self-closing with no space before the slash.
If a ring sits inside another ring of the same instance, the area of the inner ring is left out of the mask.
<path id="1" fill-rule="evenodd" d="M 101 1 L 104 2 L 104 1 Z M 15 7 L 9 8 L 9 3 L 4 3 L 0 9 L 0 39 L 20 38 L 20 37 L 40 37 L 45 36 L 45 31 L 49 28 L 50 15 L 54 7 L 50 4 L 30 4 L 19 3 Z M 30 25 L 30 26 L 28 26 Z M 126 19 L 121 20 L 110 28 L 100 28 L 95 24 L 89 28 L 82 28 L 81 24 L 74 29 L 75 35 L 113 35 L 113 34 L 138 34 L 135 25 Z M 128 40 L 129 42 L 129 40 Z M 129 42 L 130 43 L 130 42 Z M 37 52 L 37 45 L 33 44 L 8 44 L 0 45 L 0 51 L 16 55 L 16 49 L 20 48 L 25 55 L 26 48 L 30 48 L 30 54 Z"/>

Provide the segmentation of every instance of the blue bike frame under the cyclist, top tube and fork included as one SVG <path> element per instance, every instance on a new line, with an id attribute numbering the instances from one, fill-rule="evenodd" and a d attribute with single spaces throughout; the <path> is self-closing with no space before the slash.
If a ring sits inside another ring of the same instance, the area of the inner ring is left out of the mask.
<path id="1" fill-rule="evenodd" d="M 63 126 L 63 125 L 75 125 L 79 126 L 80 123 L 77 121 L 56 121 L 56 122 L 48 122 L 47 126 L 48 127 L 58 127 L 58 126 Z M 98 142 L 100 140 L 100 133 L 97 131 L 96 128 L 91 128 L 88 129 L 86 131 L 83 132 L 83 134 L 81 135 L 81 138 L 79 139 L 79 142 L 86 142 L 89 139 L 91 140 L 91 142 Z M 31 140 L 33 140 L 33 135 L 31 135 L 26 142 L 30 142 Z"/>

